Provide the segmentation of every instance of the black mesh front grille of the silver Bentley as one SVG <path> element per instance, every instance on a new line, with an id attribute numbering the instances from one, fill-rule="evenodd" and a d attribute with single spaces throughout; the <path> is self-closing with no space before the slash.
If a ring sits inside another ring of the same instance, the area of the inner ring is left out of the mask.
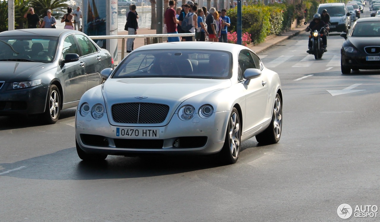
<path id="1" fill-rule="evenodd" d="M 169 106 L 158 103 L 118 103 L 111 107 L 117 123 L 158 124 L 165 121 Z"/>

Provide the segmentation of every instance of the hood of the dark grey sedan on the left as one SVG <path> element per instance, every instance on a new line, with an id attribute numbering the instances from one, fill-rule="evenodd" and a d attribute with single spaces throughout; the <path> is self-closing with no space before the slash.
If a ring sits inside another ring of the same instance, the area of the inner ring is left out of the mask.
<path id="1" fill-rule="evenodd" d="M 0 81 L 33 80 L 33 76 L 37 76 L 46 65 L 41 62 L 0 61 Z"/>

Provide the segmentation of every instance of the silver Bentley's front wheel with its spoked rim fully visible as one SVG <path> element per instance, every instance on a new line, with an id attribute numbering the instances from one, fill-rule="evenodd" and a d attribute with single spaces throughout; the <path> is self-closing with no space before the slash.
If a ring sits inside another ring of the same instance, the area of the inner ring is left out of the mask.
<path id="1" fill-rule="evenodd" d="M 226 138 L 222 151 L 220 151 L 220 159 L 225 164 L 236 163 L 239 159 L 241 139 L 241 125 L 239 113 L 236 108 L 232 109 L 226 130 Z"/>

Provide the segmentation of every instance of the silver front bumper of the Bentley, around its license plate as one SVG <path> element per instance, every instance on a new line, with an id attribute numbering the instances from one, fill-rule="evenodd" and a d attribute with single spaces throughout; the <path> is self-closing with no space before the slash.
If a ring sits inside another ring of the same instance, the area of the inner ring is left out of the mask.
<path id="1" fill-rule="evenodd" d="M 109 124 L 107 115 L 93 119 L 76 113 L 76 140 L 87 153 L 108 155 L 137 154 L 196 154 L 206 155 L 219 152 L 224 144 L 230 111 L 212 114 L 202 119 L 197 114 L 182 121 L 177 114 L 163 127 L 130 127 L 139 130 L 158 129 L 159 138 L 125 138 L 116 136 L 116 128 Z M 119 127 L 125 128 L 125 127 Z M 179 145 L 180 144 L 180 145 Z"/>

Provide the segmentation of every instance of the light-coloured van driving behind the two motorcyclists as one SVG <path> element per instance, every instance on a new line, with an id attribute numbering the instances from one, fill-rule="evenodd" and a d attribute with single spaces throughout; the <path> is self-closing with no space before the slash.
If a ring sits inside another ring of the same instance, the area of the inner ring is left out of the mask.
<path id="1" fill-rule="evenodd" d="M 318 6 L 317 12 L 322 14 L 326 9 L 330 15 L 329 32 L 348 32 L 351 27 L 350 12 L 344 3 L 324 3 Z"/>

